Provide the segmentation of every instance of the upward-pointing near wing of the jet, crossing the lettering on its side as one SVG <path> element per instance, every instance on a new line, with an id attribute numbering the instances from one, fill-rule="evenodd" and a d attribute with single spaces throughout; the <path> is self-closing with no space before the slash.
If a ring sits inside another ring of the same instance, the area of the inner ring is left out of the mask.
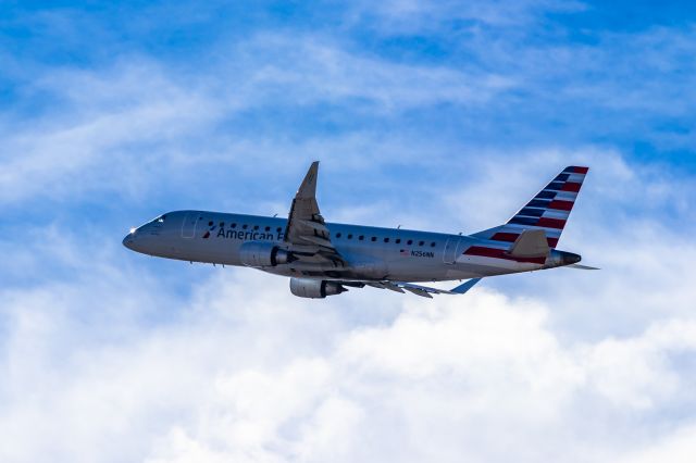
<path id="1" fill-rule="evenodd" d="M 319 161 L 314 161 L 293 199 L 284 240 L 300 261 L 330 261 L 337 267 L 344 266 L 345 261 L 331 242 L 328 228 L 316 203 L 318 174 Z"/>

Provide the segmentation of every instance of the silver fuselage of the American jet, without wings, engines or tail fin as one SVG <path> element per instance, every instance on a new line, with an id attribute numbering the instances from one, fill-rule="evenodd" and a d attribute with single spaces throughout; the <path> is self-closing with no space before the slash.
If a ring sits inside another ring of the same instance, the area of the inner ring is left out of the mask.
<path id="1" fill-rule="evenodd" d="M 133 229 L 123 243 L 160 258 L 245 265 L 240 252 L 245 243 L 265 242 L 283 249 L 286 226 L 287 220 L 278 217 L 176 211 Z M 302 259 L 257 267 L 277 275 L 316 279 L 442 281 L 530 272 L 580 261 L 576 254 L 556 250 L 540 261 L 471 255 L 467 250 L 472 247 L 499 246 L 471 236 L 337 223 L 325 226 L 331 243 L 345 258 L 344 265 Z"/>

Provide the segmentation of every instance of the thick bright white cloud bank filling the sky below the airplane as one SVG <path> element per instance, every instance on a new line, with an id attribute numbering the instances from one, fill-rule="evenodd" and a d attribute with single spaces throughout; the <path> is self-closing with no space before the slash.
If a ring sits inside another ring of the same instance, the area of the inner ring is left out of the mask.
<path id="1" fill-rule="evenodd" d="M 643 433 L 684 446 L 664 426 L 694 406 L 679 364 L 696 351 L 693 318 L 568 342 L 548 301 L 485 287 L 306 301 L 225 271 L 177 300 L 101 276 L 2 295 L 3 461 L 616 460 Z M 164 320 L 142 325 L 144 305 Z"/>

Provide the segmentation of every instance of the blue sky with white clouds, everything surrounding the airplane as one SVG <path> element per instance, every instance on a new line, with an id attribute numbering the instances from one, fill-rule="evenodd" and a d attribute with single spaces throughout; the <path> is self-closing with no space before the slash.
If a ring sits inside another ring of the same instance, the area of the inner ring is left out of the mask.
<path id="1" fill-rule="evenodd" d="M 0 460 L 696 451 L 688 2 L 2 7 Z M 121 246 L 312 160 L 330 221 L 464 233 L 589 165 L 560 247 L 602 271 L 308 302 Z"/>

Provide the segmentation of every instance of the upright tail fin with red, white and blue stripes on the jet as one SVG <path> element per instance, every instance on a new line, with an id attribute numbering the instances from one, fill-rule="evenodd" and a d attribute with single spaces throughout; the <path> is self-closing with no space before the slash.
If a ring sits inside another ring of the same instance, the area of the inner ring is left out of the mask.
<path id="1" fill-rule="evenodd" d="M 540 229 L 546 234 L 548 246 L 556 248 L 587 171 L 588 167 L 566 167 L 507 224 L 472 236 L 511 243 L 526 229 Z"/>

